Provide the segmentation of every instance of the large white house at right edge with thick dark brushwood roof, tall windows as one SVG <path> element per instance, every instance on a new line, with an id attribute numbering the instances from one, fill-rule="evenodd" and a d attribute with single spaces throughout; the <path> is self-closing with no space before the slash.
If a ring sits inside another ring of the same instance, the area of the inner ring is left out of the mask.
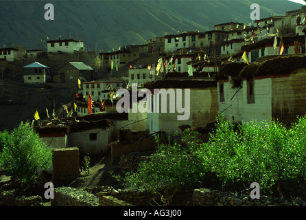
<path id="1" fill-rule="evenodd" d="M 219 111 L 233 123 L 305 115 L 306 56 L 276 56 L 261 63 L 228 63 L 215 75 Z"/>

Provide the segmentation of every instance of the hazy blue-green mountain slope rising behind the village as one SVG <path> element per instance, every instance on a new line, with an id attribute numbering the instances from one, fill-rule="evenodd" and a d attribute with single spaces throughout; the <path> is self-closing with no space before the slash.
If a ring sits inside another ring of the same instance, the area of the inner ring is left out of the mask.
<path id="1" fill-rule="evenodd" d="M 46 3 L 54 5 L 54 21 L 46 21 Z M 217 23 L 252 22 L 252 1 L 0 1 L 0 47 L 41 48 L 41 39 L 80 39 L 86 50 L 117 50 L 143 44 L 154 36 L 179 30 L 206 31 Z M 257 1 L 261 18 L 301 8 L 291 1 Z"/>

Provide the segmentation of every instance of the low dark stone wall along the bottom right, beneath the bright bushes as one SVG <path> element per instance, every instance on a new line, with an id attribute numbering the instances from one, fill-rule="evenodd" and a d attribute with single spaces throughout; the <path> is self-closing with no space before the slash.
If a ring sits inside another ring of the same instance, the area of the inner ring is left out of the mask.
<path id="1" fill-rule="evenodd" d="M 251 199 L 250 194 L 237 195 L 232 192 L 200 188 L 193 190 L 193 206 L 306 206 L 306 202 L 297 197 L 292 201 L 261 195 Z"/>

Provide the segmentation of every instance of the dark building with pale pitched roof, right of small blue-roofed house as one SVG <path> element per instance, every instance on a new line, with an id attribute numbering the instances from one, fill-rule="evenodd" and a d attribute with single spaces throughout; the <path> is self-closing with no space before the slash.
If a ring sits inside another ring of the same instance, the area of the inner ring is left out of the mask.
<path id="1" fill-rule="evenodd" d="M 78 83 L 78 80 L 89 81 L 94 78 L 94 69 L 82 62 L 68 62 L 58 69 L 54 76 L 55 83 Z"/>

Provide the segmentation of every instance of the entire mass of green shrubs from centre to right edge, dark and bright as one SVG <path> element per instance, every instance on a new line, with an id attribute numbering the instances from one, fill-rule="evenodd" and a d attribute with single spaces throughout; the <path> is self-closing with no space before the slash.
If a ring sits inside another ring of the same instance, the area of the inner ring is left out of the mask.
<path id="1" fill-rule="evenodd" d="M 305 117 L 298 117 L 291 129 L 274 120 L 234 125 L 220 116 L 215 125 L 205 143 L 189 130 L 169 138 L 137 172 L 126 175 L 124 184 L 156 194 L 163 189 L 169 201 L 178 188 L 200 182 L 207 171 L 222 184 L 256 181 L 263 192 L 281 179 L 306 179 Z"/>

